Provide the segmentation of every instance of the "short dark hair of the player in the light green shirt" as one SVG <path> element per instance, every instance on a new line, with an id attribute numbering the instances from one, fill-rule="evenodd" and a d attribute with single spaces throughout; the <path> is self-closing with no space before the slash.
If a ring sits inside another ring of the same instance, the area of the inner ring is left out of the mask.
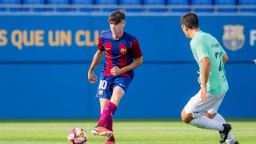
<path id="1" fill-rule="evenodd" d="M 186 13 L 182 15 L 181 24 L 187 26 L 190 29 L 196 29 L 199 27 L 198 16 L 194 13 Z"/>

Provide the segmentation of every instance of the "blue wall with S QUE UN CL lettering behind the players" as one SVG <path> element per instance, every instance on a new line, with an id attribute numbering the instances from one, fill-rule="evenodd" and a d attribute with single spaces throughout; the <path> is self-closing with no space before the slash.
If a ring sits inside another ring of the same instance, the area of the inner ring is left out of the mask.
<path id="1" fill-rule="evenodd" d="M 230 90 L 220 113 L 256 117 L 256 17 L 199 16 L 229 55 Z M 106 15 L 1 15 L 0 118 L 98 118 L 97 84 L 87 70 Z M 199 90 L 198 66 L 179 16 L 127 16 L 125 30 L 138 38 L 144 63 L 118 107 L 116 118 L 178 118 Z M 102 63 L 95 74 L 99 76 Z"/>

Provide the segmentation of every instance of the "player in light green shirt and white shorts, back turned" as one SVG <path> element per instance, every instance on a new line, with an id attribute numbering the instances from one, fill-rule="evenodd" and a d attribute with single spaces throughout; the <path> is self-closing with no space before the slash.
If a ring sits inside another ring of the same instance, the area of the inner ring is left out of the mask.
<path id="1" fill-rule="evenodd" d="M 216 38 L 200 30 L 196 14 L 182 15 L 181 24 L 186 37 L 191 38 L 190 47 L 198 62 L 201 84 L 201 90 L 182 110 L 182 121 L 198 128 L 218 130 L 220 143 L 238 144 L 230 132 L 230 124 L 218 114 L 218 107 L 229 89 L 224 69 L 228 56 Z"/>

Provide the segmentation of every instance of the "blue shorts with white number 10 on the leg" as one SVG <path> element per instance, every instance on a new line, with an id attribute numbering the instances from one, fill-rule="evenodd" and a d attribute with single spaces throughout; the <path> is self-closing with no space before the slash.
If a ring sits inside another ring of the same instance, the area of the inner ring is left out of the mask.
<path id="1" fill-rule="evenodd" d="M 98 84 L 96 98 L 107 98 L 110 100 L 115 86 L 120 86 L 126 92 L 132 77 L 104 76 L 101 74 Z"/>

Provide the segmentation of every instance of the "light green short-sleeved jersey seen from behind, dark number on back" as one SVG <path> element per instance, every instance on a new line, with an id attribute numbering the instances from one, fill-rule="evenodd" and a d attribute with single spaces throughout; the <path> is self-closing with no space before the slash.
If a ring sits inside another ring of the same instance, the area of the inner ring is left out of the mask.
<path id="1" fill-rule="evenodd" d="M 224 94 L 229 89 L 222 57 L 226 54 L 218 40 L 203 31 L 194 34 L 190 47 L 198 62 L 200 79 L 202 79 L 202 58 L 210 58 L 210 75 L 207 82 L 209 94 Z"/>

